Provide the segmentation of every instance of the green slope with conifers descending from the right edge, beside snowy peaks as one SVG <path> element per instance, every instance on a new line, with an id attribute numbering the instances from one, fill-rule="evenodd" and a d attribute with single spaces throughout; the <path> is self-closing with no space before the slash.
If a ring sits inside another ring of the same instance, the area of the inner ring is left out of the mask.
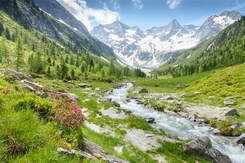
<path id="1" fill-rule="evenodd" d="M 159 74 L 183 76 L 245 62 L 245 16 L 199 46 L 181 53 L 160 69 Z"/>

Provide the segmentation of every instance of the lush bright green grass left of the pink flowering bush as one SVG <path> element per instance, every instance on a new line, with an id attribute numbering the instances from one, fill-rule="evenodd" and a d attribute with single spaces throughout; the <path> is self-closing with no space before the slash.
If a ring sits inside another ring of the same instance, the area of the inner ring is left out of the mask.
<path id="1" fill-rule="evenodd" d="M 0 83 L 0 162 L 79 162 L 76 156 L 57 153 L 58 144 L 62 140 L 61 131 L 40 117 L 33 108 L 38 108 L 37 105 L 29 108 L 18 105 L 16 108 L 19 101 L 25 99 L 33 98 L 41 107 L 47 101 L 18 90 L 16 85 L 1 78 Z M 10 87 L 11 92 L 3 94 L 2 90 L 6 87 Z"/>

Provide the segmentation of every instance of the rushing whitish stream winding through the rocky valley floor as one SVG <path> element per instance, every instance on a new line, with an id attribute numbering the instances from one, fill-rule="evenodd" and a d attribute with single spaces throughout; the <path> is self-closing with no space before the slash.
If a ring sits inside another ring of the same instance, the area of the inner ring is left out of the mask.
<path id="1" fill-rule="evenodd" d="M 137 104 L 136 100 L 127 102 L 127 92 L 132 86 L 132 83 L 126 83 L 123 87 L 115 89 L 108 98 L 118 102 L 122 109 L 131 111 L 133 115 L 142 118 L 155 118 L 158 128 L 162 128 L 166 133 L 178 136 L 180 139 L 208 136 L 213 147 L 227 154 L 234 163 L 245 163 L 245 148 L 242 145 L 236 145 L 234 138 L 214 135 L 213 128 L 210 126 L 200 125 L 182 117 L 149 109 L 144 105 Z"/>

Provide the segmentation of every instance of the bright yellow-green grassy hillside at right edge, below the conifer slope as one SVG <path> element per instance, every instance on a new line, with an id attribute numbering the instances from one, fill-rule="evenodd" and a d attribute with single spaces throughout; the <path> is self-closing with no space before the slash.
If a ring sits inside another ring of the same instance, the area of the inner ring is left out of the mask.
<path id="1" fill-rule="evenodd" d="M 219 70 L 207 77 L 192 83 L 186 92 L 192 97 L 193 91 L 199 91 L 201 94 L 196 99 L 208 99 L 214 96 L 211 103 L 223 105 L 223 101 L 227 97 L 233 97 L 235 105 L 245 104 L 245 64 L 228 67 Z"/>

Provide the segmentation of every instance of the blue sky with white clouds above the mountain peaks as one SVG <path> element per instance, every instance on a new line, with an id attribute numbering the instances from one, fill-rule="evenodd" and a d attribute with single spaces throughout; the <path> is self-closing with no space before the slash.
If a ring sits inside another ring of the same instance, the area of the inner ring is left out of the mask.
<path id="1" fill-rule="evenodd" d="M 177 19 L 201 25 L 211 15 L 232 9 L 245 14 L 245 0 L 58 0 L 91 30 L 120 20 L 143 30 Z"/>

